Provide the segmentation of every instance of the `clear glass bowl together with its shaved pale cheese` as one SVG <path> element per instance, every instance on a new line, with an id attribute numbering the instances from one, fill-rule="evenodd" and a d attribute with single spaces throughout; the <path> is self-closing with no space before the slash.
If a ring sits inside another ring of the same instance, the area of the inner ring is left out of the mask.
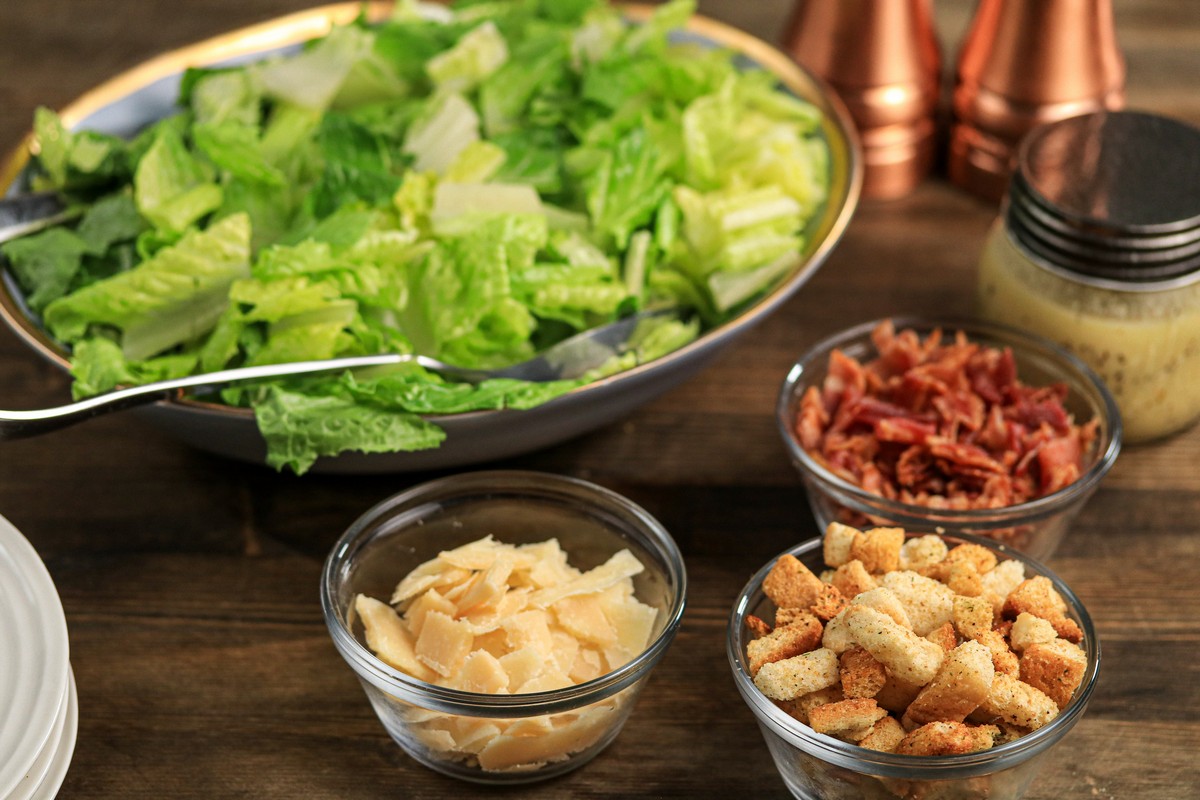
<path id="1" fill-rule="evenodd" d="M 671 535 L 626 498 L 481 471 L 362 515 L 325 561 L 320 600 L 391 738 L 439 772 L 505 784 L 563 775 L 616 739 L 686 583 Z"/>

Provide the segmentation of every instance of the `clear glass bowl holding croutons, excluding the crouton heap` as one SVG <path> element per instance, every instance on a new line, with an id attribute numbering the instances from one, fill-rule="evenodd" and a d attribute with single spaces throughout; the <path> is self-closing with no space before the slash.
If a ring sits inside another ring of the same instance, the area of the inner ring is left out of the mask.
<path id="1" fill-rule="evenodd" d="M 923 534 L 908 533 L 907 536 Z M 762 590 L 762 582 L 775 564 L 768 561 L 750 579 L 733 604 L 726 638 L 726 654 L 733 681 L 754 712 L 779 774 L 788 790 L 800 800 L 1018 800 L 1037 776 L 1046 753 L 1082 717 L 1096 688 L 1100 645 L 1096 628 L 1079 597 L 1045 566 L 991 540 L 970 535 L 942 537 L 953 547 L 971 542 L 995 553 L 997 560 L 1016 559 L 1027 578 L 1045 576 L 1067 602 L 1067 615 L 1084 631 L 1087 669 L 1075 694 L 1057 717 L 1033 733 L 990 750 L 961 756 L 900 756 L 884 753 L 815 733 L 788 716 L 755 686 L 748 667 L 745 646 L 750 633 L 748 615 L 772 619 L 774 604 Z M 824 569 L 822 540 L 811 539 L 786 551 L 820 572 Z M 782 553 L 780 553 L 782 555 Z M 776 557 L 778 558 L 778 557 Z"/>

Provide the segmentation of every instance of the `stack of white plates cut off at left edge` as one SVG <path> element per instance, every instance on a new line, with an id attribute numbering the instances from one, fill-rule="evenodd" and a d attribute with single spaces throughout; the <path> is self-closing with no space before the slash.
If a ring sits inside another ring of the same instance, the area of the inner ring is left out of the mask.
<path id="1" fill-rule="evenodd" d="M 55 796 L 78 722 L 59 593 L 32 545 L 0 517 L 0 798 Z"/>

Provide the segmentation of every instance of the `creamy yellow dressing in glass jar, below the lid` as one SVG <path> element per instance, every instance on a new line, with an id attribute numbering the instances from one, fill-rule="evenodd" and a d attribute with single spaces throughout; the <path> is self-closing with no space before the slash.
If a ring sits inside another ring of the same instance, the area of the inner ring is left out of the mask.
<path id="1" fill-rule="evenodd" d="M 1099 373 L 1127 441 L 1157 439 L 1200 417 L 1200 276 L 1157 291 L 1074 281 L 1039 265 L 997 221 L 976 299 L 982 317 L 1058 342 Z"/>

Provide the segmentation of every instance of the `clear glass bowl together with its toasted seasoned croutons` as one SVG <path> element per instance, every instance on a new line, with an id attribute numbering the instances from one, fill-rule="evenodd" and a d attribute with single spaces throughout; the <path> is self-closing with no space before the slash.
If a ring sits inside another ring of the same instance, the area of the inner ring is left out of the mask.
<path id="1" fill-rule="evenodd" d="M 830 524 L 738 595 L 727 655 L 803 800 L 1015 800 L 1100 649 L 1052 572 L 978 536 Z"/>

